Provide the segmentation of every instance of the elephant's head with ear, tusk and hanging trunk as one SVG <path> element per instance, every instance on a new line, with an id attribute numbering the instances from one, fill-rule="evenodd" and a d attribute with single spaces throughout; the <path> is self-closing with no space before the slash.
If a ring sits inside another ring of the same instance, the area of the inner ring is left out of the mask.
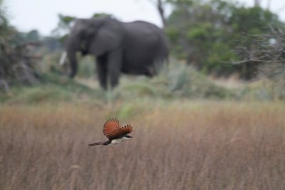
<path id="1" fill-rule="evenodd" d="M 83 56 L 100 56 L 118 46 L 123 36 L 120 24 L 109 17 L 77 19 L 66 40 L 66 52 L 71 65 L 70 77 L 77 73 L 76 52 Z"/>

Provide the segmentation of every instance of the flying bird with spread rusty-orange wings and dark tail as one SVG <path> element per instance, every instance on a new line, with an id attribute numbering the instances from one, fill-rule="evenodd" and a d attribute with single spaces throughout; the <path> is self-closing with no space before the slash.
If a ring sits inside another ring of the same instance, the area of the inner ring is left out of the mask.
<path id="1" fill-rule="evenodd" d="M 117 119 L 110 119 L 106 121 L 105 124 L 103 125 L 103 134 L 108 138 L 108 141 L 95 142 L 88 145 L 89 147 L 92 147 L 95 145 L 118 144 L 119 142 L 133 138 L 130 135 L 128 135 L 130 132 L 133 132 L 133 127 L 131 125 L 125 125 L 121 127 Z"/>

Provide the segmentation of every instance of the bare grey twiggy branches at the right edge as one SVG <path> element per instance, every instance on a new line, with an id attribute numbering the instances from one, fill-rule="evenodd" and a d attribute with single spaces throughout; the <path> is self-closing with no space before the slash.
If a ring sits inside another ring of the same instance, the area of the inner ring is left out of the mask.
<path id="1" fill-rule="evenodd" d="M 269 78 L 285 87 L 285 28 L 271 28 L 269 34 L 248 36 L 252 49 L 242 48 L 247 59 L 234 64 L 258 65 L 259 78 Z"/>

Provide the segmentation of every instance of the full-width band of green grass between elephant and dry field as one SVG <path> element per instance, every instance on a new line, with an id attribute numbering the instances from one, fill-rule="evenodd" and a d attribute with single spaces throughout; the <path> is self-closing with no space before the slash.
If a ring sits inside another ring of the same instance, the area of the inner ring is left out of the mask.
<path id="1" fill-rule="evenodd" d="M 90 81 L 90 80 L 88 80 Z M 98 83 L 98 81 L 93 81 Z M 237 82 L 239 83 L 239 82 Z M 229 88 L 215 83 L 203 73 L 184 65 L 172 62 L 168 70 L 162 70 L 154 78 L 122 75 L 120 85 L 111 93 L 82 80 L 77 83 L 60 73 L 41 73 L 36 85 L 14 85 L 8 93 L 0 93 L 0 102 L 99 102 L 100 104 L 130 102 L 130 100 L 284 100 L 285 91 L 280 85 L 269 80 L 238 85 Z M 122 118 L 129 115 L 125 108 Z M 127 113 L 125 113 L 127 112 Z"/>

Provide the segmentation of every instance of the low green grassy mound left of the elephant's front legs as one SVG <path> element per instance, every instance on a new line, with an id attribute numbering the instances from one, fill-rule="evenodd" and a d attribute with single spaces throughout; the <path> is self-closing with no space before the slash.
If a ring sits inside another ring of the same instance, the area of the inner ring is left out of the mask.
<path id="1" fill-rule="evenodd" d="M 103 91 L 91 89 L 67 77 L 48 73 L 36 85 L 14 85 L 8 93 L 0 93 L 0 102 L 79 102 L 102 101 Z"/>

